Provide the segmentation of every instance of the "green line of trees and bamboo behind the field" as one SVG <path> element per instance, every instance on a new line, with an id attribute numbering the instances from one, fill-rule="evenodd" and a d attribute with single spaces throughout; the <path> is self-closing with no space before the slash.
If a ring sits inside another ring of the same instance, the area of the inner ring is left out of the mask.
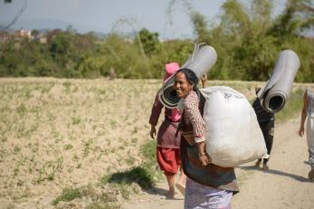
<path id="1" fill-rule="evenodd" d="M 0 43 L 0 76 L 98 78 L 114 70 L 118 78 L 160 79 L 167 62 L 186 62 L 194 43 L 214 46 L 218 60 L 208 76 L 214 80 L 266 81 L 279 52 L 300 57 L 296 81 L 314 82 L 314 12 L 309 0 L 288 0 L 273 17 L 273 1 L 227 0 L 219 22 L 211 24 L 187 0 L 172 0 L 169 12 L 183 3 L 195 38 L 160 41 L 143 28 L 132 37 L 76 33 L 71 27 L 46 33 L 47 43 L 27 39 Z"/>

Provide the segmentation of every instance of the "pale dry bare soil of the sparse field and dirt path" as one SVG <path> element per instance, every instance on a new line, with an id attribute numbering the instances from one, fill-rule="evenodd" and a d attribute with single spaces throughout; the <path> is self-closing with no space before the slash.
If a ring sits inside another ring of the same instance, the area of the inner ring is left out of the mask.
<path id="1" fill-rule="evenodd" d="M 99 183 L 102 176 L 138 166 L 149 138 L 148 118 L 161 81 L 0 79 L 0 209 L 55 208 L 64 188 Z M 262 82 L 210 81 L 243 92 L 248 100 Z M 304 88 L 306 84 L 300 85 Z M 162 116 L 160 117 L 160 120 Z M 241 192 L 233 208 L 314 208 L 307 179 L 306 139 L 299 119 L 276 124 L 269 171 L 253 163 L 236 168 Z M 95 190 L 97 188 L 95 187 Z M 122 208 L 183 208 L 167 200 L 166 179 L 130 195 Z M 85 208 L 77 198 L 57 208 Z"/>

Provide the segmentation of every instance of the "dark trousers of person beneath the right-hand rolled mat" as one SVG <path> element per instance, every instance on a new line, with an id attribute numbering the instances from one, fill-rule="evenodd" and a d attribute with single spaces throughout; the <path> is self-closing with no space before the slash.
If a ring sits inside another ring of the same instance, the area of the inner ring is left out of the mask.
<path id="1" fill-rule="evenodd" d="M 275 121 L 274 120 L 268 120 L 268 121 L 262 121 L 259 122 L 260 127 L 262 129 L 262 135 L 264 136 L 266 148 L 267 148 L 267 154 L 271 155 L 271 147 L 273 142 L 273 134 L 275 129 Z M 268 159 L 263 159 L 264 163 L 267 163 Z"/>

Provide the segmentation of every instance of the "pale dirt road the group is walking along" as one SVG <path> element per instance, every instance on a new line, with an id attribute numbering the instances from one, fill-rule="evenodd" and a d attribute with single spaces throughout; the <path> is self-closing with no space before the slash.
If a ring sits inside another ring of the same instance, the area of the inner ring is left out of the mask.
<path id="1" fill-rule="evenodd" d="M 297 135 L 300 119 L 277 123 L 269 162 L 264 171 L 247 163 L 236 167 L 241 192 L 233 196 L 233 209 L 314 208 L 314 183 L 309 182 L 306 138 Z M 132 196 L 123 209 L 179 209 L 184 197 L 167 200 L 167 183 L 159 183 L 149 191 Z"/>

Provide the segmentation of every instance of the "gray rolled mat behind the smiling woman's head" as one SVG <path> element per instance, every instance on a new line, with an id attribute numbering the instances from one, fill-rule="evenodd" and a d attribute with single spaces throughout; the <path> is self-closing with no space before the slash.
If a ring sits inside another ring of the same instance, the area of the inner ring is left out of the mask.
<path id="1" fill-rule="evenodd" d="M 204 43 L 195 44 L 195 50 L 186 63 L 181 67 L 190 69 L 195 72 L 198 79 L 209 71 L 217 61 L 217 53 L 212 46 Z M 175 83 L 175 74 L 164 82 L 164 85 L 158 91 L 160 101 L 169 109 L 176 108 L 179 98 L 176 96 L 176 90 L 173 86 Z"/>

